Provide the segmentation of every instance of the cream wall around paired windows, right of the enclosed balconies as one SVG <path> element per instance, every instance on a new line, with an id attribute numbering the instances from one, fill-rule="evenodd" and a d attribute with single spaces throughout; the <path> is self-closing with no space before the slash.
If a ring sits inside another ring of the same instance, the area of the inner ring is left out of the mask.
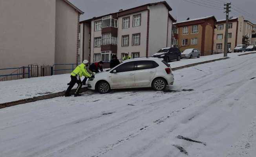
<path id="1" fill-rule="evenodd" d="M 141 26 L 132 27 L 133 15 L 141 14 Z M 130 16 L 130 28 L 123 29 L 122 22 L 123 17 Z M 118 17 L 118 46 L 117 46 L 117 58 L 121 58 L 121 53 L 128 52 L 131 56 L 133 52 L 139 52 L 140 57 L 146 56 L 146 35 L 147 35 L 147 21 L 148 11 L 141 11 L 130 15 L 124 15 Z M 141 33 L 141 43 L 139 46 L 132 46 L 132 34 Z M 129 35 L 129 46 L 122 47 L 122 35 Z"/>

